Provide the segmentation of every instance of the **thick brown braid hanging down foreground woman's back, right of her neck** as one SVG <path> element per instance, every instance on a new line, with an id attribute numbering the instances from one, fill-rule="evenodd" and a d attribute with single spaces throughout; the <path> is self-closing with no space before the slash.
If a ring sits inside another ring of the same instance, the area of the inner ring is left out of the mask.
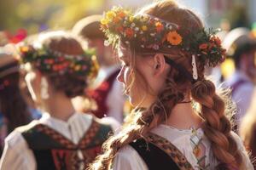
<path id="1" fill-rule="evenodd" d="M 213 82 L 203 79 L 195 82 L 191 94 L 201 104 L 201 116 L 205 119 L 202 129 L 212 143 L 212 152 L 221 163 L 218 169 L 241 167 L 241 154 L 231 136 L 231 123 L 224 115 L 224 100 L 216 94 Z"/>

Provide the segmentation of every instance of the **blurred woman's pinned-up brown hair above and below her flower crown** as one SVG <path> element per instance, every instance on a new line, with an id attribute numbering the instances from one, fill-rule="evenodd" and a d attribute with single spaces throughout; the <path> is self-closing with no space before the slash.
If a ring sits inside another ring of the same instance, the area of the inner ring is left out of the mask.
<path id="1" fill-rule="evenodd" d="M 39 41 L 44 47 L 49 50 L 59 52 L 61 54 L 82 55 L 84 54 L 83 43 L 78 37 L 74 37 L 65 31 L 50 31 L 41 35 L 42 40 Z M 39 39 L 39 38 L 38 38 Z M 36 38 L 30 43 L 38 41 Z M 36 69 L 36 63 L 31 63 L 32 68 Z M 39 70 L 40 71 L 40 70 Z M 75 73 L 67 72 L 63 75 L 49 72 L 43 74 L 59 92 L 66 94 L 68 98 L 73 98 L 79 95 L 84 95 L 84 88 L 87 87 L 86 77 L 78 76 Z"/>

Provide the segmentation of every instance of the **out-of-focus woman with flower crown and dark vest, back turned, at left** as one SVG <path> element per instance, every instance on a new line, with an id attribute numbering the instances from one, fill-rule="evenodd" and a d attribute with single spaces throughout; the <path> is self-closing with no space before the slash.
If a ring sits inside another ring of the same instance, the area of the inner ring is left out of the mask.
<path id="1" fill-rule="evenodd" d="M 76 37 L 51 31 L 21 45 L 20 61 L 32 99 L 44 114 L 9 134 L 0 169 L 84 169 L 117 126 L 75 111 L 71 102 L 96 76 L 95 56 Z"/>

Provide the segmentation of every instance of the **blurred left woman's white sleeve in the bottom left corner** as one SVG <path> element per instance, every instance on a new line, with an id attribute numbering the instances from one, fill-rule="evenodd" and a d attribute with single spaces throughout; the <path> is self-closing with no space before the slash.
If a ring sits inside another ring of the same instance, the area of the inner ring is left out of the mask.
<path id="1" fill-rule="evenodd" d="M 35 170 L 36 161 L 21 133 L 14 131 L 4 141 L 3 156 L 0 160 L 1 170 Z"/>

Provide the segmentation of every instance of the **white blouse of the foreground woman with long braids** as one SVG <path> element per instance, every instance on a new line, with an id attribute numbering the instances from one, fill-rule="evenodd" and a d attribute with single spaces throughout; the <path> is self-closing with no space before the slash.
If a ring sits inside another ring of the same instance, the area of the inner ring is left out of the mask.
<path id="1" fill-rule="evenodd" d="M 196 131 L 196 132 L 195 132 Z M 195 133 L 201 139 L 201 144 L 204 146 L 205 150 L 205 165 L 207 168 L 213 170 L 218 165 L 217 159 L 213 156 L 211 150 L 211 144 L 207 137 L 204 135 L 204 132 L 201 128 L 197 130 L 186 129 L 180 130 L 175 127 L 170 127 L 161 124 L 159 127 L 155 127 L 152 133 L 158 134 L 161 137 L 167 139 L 172 144 L 174 144 L 178 150 L 180 150 L 183 155 L 187 158 L 189 163 L 195 170 L 199 169 L 198 161 L 195 155 L 193 154 L 193 144 L 191 139 Z M 241 150 L 243 161 L 246 162 L 246 170 L 253 170 L 253 165 L 247 156 L 247 152 L 241 142 L 241 139 L 238 135 L 232 132 L 236 143 L 238 144 L 238 150 Z M 134 150 L 130 145 L 126 145 L 117 153 L 113 161 L 113 170 L 148 170 L 146 163 L 143 161 L 143 158 L 138 155 L 137 151 Z"/>

